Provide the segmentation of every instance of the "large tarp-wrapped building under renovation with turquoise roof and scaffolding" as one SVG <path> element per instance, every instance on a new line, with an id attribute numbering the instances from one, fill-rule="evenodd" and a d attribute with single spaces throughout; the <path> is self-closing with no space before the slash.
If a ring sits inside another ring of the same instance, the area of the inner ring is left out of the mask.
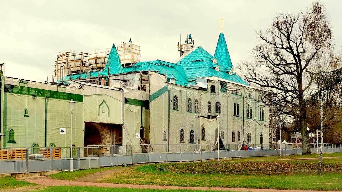
<path id="1" fill-rule="evenodd" d="M 269 108 L 235 74 L 223 32 L 213 55 L 196 46 L 191 34 L 178 51 L 172 62 L 140 61 L 140 46 L 130 40 L 59 54 L 54 83 L 2 76 L 1 147 L 70 146 L 70 99 L 76 101 L 76 147 L 150 144 L 132 148 L 139 153 L 173 152 L 180 143 L 202 151 L 217 149 L 217 143 L 238 144 L 230 150 L 268 144 Z"/>

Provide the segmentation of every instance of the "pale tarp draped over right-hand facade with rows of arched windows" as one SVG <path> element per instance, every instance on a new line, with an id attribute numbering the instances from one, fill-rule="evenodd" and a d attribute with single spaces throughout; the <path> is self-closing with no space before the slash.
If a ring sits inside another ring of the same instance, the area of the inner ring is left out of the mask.
<path id="1" fill-rule="evenodd" d="M 217 142 L 218 124 L 215 119 L 217 115 L 221 116 L 219 134 L 224 144 L 242 142 L 259 144 L 261 132 L 263 143 L 268 143 L 269 110 L 263 106 L 265 104 L 260 101 L 258 92 L 253 88 L 228 81 L 208 79 L 208 88 L 202 91 L 167 83 L 163 75 L 150 73 L 153 74 L 150 76 L 149 87 L 151 144 L 183 144 L 183 139 L 182 142 L 180 140 L 182 130 L 184 144 L 208 145 L 209 149 L 210 145 Z M 211 93 L 212 85 L 215 86 L 213 93 Z M 173 109 L 174 96 L 177 96 L 177 109 Z M 195 99 L 198 100 L 198 113 L 195 113 Z M 208 101 L 210 112 L 208 112 Z M 188 110 L 188 102 L 191 105 L 190 110 Z M 219 106 L 216 106 L 216 102 L 220 103 L 220 112 L 216 109 Z M 237 104 L 239 106 L 235 109 L 239 111 L 236 114 L 234 114 L 234 103 L 235 107 Z M 263 119 L 259 115 L 260 109 L 263 109 Z M 202 138 L 202 127 L 205 128 L 205 138 Z M 190 142 L 191 131 L 195 133 L 195 142 Z M 235 139 L 233 139 L 233 131 Z M 238 132 L 240 142 L 238 142 Z M 170 151 L 177 150 L 170 146 Z"/>

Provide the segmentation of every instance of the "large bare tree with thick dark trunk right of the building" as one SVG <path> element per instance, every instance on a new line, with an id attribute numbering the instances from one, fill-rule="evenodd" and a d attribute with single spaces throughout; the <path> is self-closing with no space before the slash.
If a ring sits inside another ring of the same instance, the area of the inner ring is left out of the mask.
<path id="1" fill-rule="evenodd" d="M 306 12 L 277 14 L 266 30 L 257 31 L 261 44 L 252 49 L 253 62 L 239 66 L 242 77 L 258 86 L 277 116 L 291 117 L 301 131 L 303 154 L 310 154 L 307 107 L 317 92 L 315 74 L 333 49 L 325 8 L 315 2 Z"/>

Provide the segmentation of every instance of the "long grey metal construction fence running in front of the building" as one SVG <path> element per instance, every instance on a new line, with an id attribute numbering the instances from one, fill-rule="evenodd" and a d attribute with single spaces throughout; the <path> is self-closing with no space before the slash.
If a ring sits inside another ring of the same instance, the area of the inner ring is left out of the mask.
<path id="1" fill-rule="evenodd" d="M 272 147 L 272 149 L 270 149 Z M 235 144 L 220 145 L 220 158 L 256 157 L 301 154 L 302 149 L 292 145 L 250 145 L 248 150 L 237 150 Z M 312 144 L 311 153 L 317 153 Z M 34 173 L 70 169 L 70 148 L 0 149 L 0 174 Z M 342 144 L 325 143 L 323 152 L 342 152 Z M 101 166 L 131 165 L 139 163 L 201 161 L 218 158 L 212 145 L 154 144 L 112 145 L 73 148 L 73 168 L 88 169 Z"/>

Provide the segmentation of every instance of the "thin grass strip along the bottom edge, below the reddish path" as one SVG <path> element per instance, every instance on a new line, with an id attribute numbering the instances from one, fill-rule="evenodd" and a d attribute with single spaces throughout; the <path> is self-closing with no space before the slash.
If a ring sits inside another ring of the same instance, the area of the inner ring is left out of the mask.
<path id="1" fill-rule="evenodd" d="M 73 191 L 73 192 L 103 192 L 103 191 L 115 191 L 115 192 L 213 192 L 202 191 L 202 190 L 158 190 L 158 189 L 130 189 L 130 188 L 104 188 L 104 187 L 74 187 L 74 186 L 57 186 L 57 187 L 47 187 L 39 189 L 37 191 L 46 192 L 60 192 L 60 191 Z"/>

